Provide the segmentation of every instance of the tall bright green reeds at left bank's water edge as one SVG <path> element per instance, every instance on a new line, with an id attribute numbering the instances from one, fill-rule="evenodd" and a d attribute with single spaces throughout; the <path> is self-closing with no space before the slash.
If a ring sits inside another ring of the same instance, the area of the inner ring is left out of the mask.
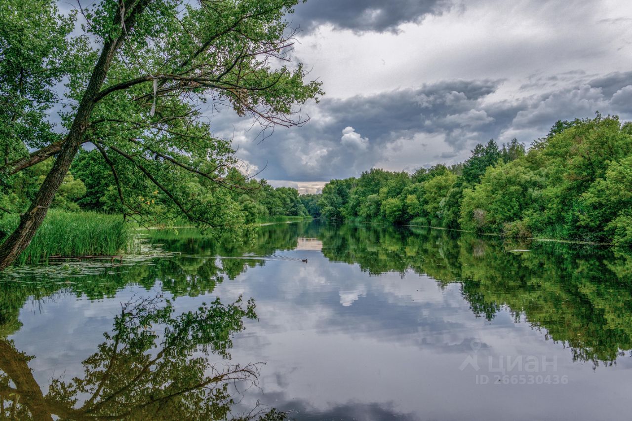
<path id="1" fill-rule="evenodd" d="M 18 223 L 17 215 L 0 219 L 1 238 Z M 112 255 L 129 248 L 132 239 L 130 226 L 119 215 L 51 209 L 16 262 L 37 264 L 53 255 Z"/>

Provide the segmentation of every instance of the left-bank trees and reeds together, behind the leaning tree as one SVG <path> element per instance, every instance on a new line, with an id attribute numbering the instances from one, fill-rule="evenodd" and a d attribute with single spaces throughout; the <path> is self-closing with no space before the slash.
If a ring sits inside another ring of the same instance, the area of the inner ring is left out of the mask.
<path id="1" fill-rule="evenodd" d="M 0 240 L 20 223 L 52 166 L 52 158 L 25 168 L 11 177 L 0 194 Z M 229 168 L 231 188 L 214 189 L 191 178 L 188 188 L 214 199 L 218 225 L 205 230 L 212 238 L 246 238 L 258 223 L 310 218 L 295 188 L 270 186 Z M 119 179 L 120 181 L 120 179 Z M 123 187 L 121 186 L 121 189 Z M 129 189 L 129 190 L 127 190 Z M 51 209 L 18 264 L 48 262 L 51 256 L 118 255 L 134 252 L 144 228 L 199 225 L 183 214 L 173 201 L 143 183 L 126 188 L 127 203 L 118 195 L 116 180 L 99 150 L 82 149 L 52 200 Z M 133 200 L 133 208 L 127 206 Z M 130 211 L 133 209 L 133 211 Z"/>

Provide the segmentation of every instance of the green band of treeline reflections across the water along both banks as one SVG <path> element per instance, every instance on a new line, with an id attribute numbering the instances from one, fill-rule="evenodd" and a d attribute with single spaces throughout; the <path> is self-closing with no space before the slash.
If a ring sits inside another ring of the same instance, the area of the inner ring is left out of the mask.
<path id="1" fill-rule="evenodd" d="M 413 271 L 441 287 L 458 283 L 475 315 L 491 320 L 508 307 L 516 320 L 524 316 L 547 338 L 567 343 L 577 360 L 610 363 L 632 349 L 632 254 L 623 250 L 506 243 L 419 227 L 319 223 L 263 226 L 246 244 L 218 244 L 190 229 L 154 233 L 153 241 L 182 253 L 63 281 L 0 282 L 0 336 L 19 329 L 18 312 L 28 297 L 46 300 L 71 291 L 95 300 L 130 283 L 149 290 L 156 281 L 173 296 L 204 295 L 248 267 L 265 265 L 260 257 L 274 259 L 280 250 L 298 249 L 358 264 L 375 276 Z M 343 291 L 343 305 L 358 294 L 362 291 Z"/>

